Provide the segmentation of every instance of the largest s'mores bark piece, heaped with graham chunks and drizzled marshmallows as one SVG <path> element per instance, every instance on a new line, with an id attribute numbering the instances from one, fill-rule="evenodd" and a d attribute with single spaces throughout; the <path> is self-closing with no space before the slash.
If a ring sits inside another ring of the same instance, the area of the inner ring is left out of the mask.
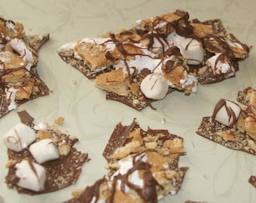
<path id="1" fill-rule="evenodd" d="M 250 51 L 221 20 L 190 20 L 186 11 L 136 23 L 132 29 L 63 44 L 58 53 L 96 79 L 107 99 L 138 111 L 177 89 L 189 95 L 198 83 L 234 77 Z"/>

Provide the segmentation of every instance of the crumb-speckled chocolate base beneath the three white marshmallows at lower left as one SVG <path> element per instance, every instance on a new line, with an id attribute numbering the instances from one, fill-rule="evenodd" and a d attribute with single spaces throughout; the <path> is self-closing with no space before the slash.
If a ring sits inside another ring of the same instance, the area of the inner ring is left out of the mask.
<path id="1" fill-rule="evenodd" d="M 26 111 L 20 114 L 21 119 L 24 113 L 26 113 Z M 49 125 L 48 123 L 44 123 L 46 129 L 38 129 L 34 123 L 26 123 L 26 125 L 36 132 L 37 139 L 35 142 L 41 141 L 44 138 L 50 138 L 53 141 L 53 144 L 58 148 L 60 157 L 59 159 L 41 163 L 46 170 L 47 180 L 44 189 L 40 192 L 35 192 L 17 186 L 19 180 L 16 176 L 17 168 L 15 167 L 15 164 L 24 159 L 29 160 L 29 162 L 35 162 L 29 149 L 26 148 L 21 152 L 15 152 L 8 149 L 8 163 L 6 165 L 8 174 L 5 177 L 5 183 L 8 184 L 8 187 L 17 189 L 17 192 L 19 193 L 39 195 L 54 192 L 74 184 L 81 174 L 84 163 L 90 161 L 87 153 L 82 153 L 74 147 L 75 143 L 78 142 L 78 138 L 62 133 L 56 126 Z"/>

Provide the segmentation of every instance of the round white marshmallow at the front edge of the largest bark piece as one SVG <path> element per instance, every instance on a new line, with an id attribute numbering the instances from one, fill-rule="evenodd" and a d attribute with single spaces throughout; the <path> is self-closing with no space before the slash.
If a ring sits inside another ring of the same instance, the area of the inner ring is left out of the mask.
<path id="1" fill-rule="evenodd" d="M 143 94 L 147 98 L 163 99 L 169 89 L 169 84 L 164 77 L 158 74 L 148 74 L 141 83 Z"/>

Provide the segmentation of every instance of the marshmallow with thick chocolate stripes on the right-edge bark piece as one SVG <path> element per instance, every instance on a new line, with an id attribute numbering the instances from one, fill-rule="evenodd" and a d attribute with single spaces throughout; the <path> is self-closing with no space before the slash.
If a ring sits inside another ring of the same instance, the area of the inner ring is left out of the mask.
<path id="1" fill-rule="evenodd" d="M 227 99 L 221 98 L 215 105 L 212 117 L 225 126 L 233 126 L 241 112 L 239 105 Z"/>

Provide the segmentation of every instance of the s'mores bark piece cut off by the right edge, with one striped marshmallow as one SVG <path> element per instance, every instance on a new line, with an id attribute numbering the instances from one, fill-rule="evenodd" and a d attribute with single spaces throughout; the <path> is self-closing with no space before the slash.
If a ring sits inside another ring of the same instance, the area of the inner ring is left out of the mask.
<path id="1" fill-rule="evenodd" d="M 197 134 L 233 150 L 256 155 L 256 91 L 239 91 L 235 102 L 221 98 L 212 117 L 203 117 Z"/>

